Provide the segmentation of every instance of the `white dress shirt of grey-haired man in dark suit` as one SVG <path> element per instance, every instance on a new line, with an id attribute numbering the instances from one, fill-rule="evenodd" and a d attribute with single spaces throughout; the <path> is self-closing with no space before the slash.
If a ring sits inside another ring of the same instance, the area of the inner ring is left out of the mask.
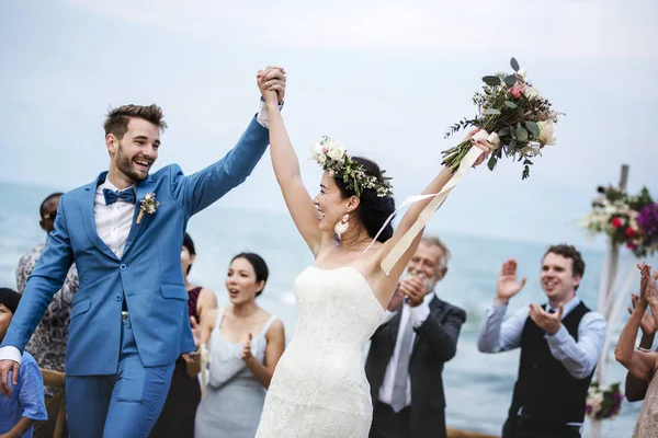
<path id="1" fill-rule="evenodd" d="M 405 326 L 407 325 L 407 321 L 411 318 L 411 323 L 413 327 L 419 327 L 430 315 L 430 302 L 434 299 L 435 293 L 430 292 L 424 296 L 422 303 L 412 308 L 411 306 L 405 303 L 402 306 L 402 314 L 400 315 L 400 326 L 398 328 L 398 333 L 396 336 L 395 348 L 393 350 L 393 357 L 386 367 L 386 373 L 384 374 L 384 381 L 382 382 L 382 387 L 379 388 L 379 402 L 390 404 L 393 400 L 393 387 L 395 384 L 395 373 L 397 372 L 397 362 L 398 357 L 400 355 L 401 344 L 398 342 L 400 336 L 402 336 Z M 397 311 L 385 311 L 382 316 L 382 325 L 386 324 L 397 314 Z M 416 341 L 416 332 L 411 335 L 411 348 L 413 348 L 413 342 Z M 411 379 L 407 378 L 407 406 L 411 404 Z"/>

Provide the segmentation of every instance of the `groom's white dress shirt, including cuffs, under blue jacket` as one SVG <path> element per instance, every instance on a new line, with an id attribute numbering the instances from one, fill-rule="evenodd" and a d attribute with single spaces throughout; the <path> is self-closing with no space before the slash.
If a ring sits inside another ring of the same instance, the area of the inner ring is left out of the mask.
<path id="1" fill-rule="evenodd" d="M 281 110 L 282 105 L 279 106 Z M 268 106 L 263 101 L 260 102 L 259 112 L 256 115 L 256 120 L 263 127 L 269 128 Z M 135 214 L 135 204 L 126 203 L 124 199 L 117 199 L 112 205 L 105 205 L 105 196 L 103 188 L 118 191 L 110 180 L 97 187 L 97 193 L 93 200 L 93 218 L 97 226 L 97 232 L 101 240 L 105 242 L 107 247 L 112 250 L 118 258 L 122 257 L 128 233 L 133 226 Z M 125 188 L 126 191 L 135 191 L 135 185 Z M 137 199 L 139 203 L 139 199 Z M 21 364 L 21 351 L 11 345 L 0 348 L 0 360 L 10 359 Z"/>

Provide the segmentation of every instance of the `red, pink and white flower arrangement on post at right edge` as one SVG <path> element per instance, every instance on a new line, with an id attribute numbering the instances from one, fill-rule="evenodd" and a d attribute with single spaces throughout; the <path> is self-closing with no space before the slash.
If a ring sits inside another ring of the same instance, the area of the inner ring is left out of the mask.
<path id="1" fill-rule="evenodd" d="M 649 191 L 643 187 L 635 196 L 612 186 L 597 191 L 592 212 L 583 218 L 581 227 L 591 237 L 606 234 L 613 244 L 625 245 L 637 257 L 658 252 L 658 203 Z"/>

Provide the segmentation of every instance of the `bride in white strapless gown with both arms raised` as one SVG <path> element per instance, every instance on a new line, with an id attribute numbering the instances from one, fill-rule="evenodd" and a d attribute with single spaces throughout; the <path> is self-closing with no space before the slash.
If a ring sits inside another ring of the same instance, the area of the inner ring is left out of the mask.
<path id="1" fill-rule="evenodd" d="M 388 178 L 374 162 L 350 157 L 325 138 L 314 149 L 325 172 L 320 193 L 311 198 L 280 114 L 277 85 L 272 85 L 284 74 L 282 69 L 268 68 L 259 71 L 257 82 L 268 107 L 276 181 L 315 264 L 295 280 L 295 333 L 274 370 L 256 437 L 365 438 L 373 408 L 363 350 L 422 233 L 390 275 L 381 264 L 430 200 L 415 203 L 395 232 L 387 224 L 368 249 L 395 211 Z M 492 146 L 474 145 L 485 152 L 479 164 Z M 443 169 L 423 194 L 440 192 L 451 176 Z"/>

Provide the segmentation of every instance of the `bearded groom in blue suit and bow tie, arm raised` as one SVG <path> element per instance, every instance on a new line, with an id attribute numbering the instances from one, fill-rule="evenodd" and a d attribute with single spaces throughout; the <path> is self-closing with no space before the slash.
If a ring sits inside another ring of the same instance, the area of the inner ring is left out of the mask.
<path id="1" fill-rule="evenodd" d="M 285 77 L 270 68 L 282 104 Z M 110 170 L 64 195 L 55 229 L 0 347 L 0 392 L 75 262 L 66 358 L 72 438 L 146 437 L 166 400 L 175 359 L 195 349 L 180 251 L 190 217 L 251 173 L 269 142 L 266 110 L 226 157 L 190 176 L 149 175 L 167 127 L 157 105 L 124 105 L 105 120 Z"/>

